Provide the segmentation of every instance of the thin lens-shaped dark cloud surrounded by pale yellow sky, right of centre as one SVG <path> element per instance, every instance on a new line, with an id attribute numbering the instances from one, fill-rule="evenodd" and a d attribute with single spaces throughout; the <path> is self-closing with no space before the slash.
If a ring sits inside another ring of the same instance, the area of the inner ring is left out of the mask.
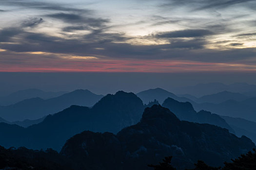
<path id="1" fill-rule="evenodd" d="M 173 32 L 163 32 L 158 33 L 156 37 L 158 38 L 178 38 L 178 37 L 203 37 L 207 35 L 212 35 L 213 32 L 209 30 L 180 30 Z"/>

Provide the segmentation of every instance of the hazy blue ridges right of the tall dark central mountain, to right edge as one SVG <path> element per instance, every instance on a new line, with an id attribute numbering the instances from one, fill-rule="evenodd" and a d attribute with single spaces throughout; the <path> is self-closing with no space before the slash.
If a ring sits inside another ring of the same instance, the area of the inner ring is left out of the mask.
<path id="1" fill-rule="evenodd" d="M 236 87 L 239 85 L 240 84 L 236 84 L 234 86 Z M 254 85 L 252 86 L 254 87 Z M 159 101 L 159 103 L 162 103 L 162 101 L 170 97 L 179 102 L 192 103 L 197 111 L 207 110 L 218 115 L 240 117 L 256 121 L 256 98 L 251 98 L 240 93 L 222 91 L 200 98 L 191 95 L 181 95 L 181 97 L 178 97 L 174 93 L 161 88 L 156 88 L 139 92 L 137 95 L 144 103 L 154 101 L 155 99 Z"/>

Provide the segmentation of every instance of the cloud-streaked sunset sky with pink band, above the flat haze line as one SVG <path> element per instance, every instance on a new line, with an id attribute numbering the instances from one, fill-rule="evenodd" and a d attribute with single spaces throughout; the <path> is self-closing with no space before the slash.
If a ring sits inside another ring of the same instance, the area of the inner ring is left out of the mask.
<path id="1" fill-rule="evenodd" d="M 256 71 L 256 0 L 0 0 L 0 18 L 0 72 Z"/>

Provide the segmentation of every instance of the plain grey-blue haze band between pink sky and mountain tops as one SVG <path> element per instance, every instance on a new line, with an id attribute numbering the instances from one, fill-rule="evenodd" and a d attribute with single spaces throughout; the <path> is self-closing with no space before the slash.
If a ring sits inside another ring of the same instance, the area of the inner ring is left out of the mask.
<path id="1" fill-rule="evenodd" d="M 188 86 L 197 84 L 220 82 L 231 85 L 245 82 L 256 85 L 255 76 L 255 73 L 251 72 L 0 72 L 0 97 L 30 88 L 46 92 L 88 89 L 96 94 L 106 95 L 115 94 L 119 90 L 138 93 L 159 87 L 175 94 L 186 94 Z M 245 88 L 243 91 L 250 90 Z M 209 92 L 204 93 L 206 94 L 212 94 L 211 88 Z"/>

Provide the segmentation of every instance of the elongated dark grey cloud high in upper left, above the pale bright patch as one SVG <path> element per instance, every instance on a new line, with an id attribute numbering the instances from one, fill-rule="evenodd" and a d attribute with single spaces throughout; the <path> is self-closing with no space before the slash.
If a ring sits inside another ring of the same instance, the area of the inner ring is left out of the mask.
<path id="1" fill-rule="evenodd" d="M 105 25 L 105 23 L 109 22 L 109 19 L 83 17 L 81 14 L 56 13 L 56 14 L 49 14 L 46 16 L 60 19 L 67 23 L 87 24 L 92 27 L 102 27 Z"/>

